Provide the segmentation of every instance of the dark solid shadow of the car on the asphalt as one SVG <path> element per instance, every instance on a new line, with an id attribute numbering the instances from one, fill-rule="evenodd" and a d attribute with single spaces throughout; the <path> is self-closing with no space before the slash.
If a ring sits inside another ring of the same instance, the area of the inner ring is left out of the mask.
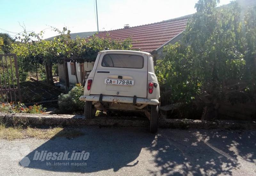
<path id="1" fill-rule="evenodd" d="M 136 158 L 140 155 L 141 149 L 150 146 L 155 138 L 155 135 L 148 133 L 146 128 L 85 127 L 83 130 L 84 135 L 74 139 L 53 137 L 48 140 L 26 156 L 30 160 L 27 167 L 56 172 L 89 173 L 108 169 L 113 169 L 116 172 L 122 167 L 137 165 L 140 161 Z M 69 156 L 72 151 L 85 151 L 90 155 L 86 161 L 57 159 L 41 161 L 33 160 L 36 151 L 52 153 L 67 151 L 70 153 Z M 54 163 L 68 163 L 69 165 L 54 165 Z M 72 163 L 73 165 L 71 165 Z M 78 167 L 74 163 L 86 163 L 86 165 Z M 22 164 L 20 165 L 22 166 Z"/>

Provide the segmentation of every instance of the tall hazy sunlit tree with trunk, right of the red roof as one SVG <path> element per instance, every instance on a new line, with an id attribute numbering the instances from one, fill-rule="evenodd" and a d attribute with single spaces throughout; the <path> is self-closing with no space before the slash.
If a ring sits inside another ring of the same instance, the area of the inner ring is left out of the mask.
<path id="1" fill-rule="evenodd" d="M 201 90 L 208 94 L 203 119 L 216 118 L 219 101 L 241 90 L 230 85 L 239 85 L 245 65 L 240 8 L 231 3 L 217 9 L 217 3 L 199 0 L 184 35 L 193 51 L 196 76 L 202 80 Z"/>

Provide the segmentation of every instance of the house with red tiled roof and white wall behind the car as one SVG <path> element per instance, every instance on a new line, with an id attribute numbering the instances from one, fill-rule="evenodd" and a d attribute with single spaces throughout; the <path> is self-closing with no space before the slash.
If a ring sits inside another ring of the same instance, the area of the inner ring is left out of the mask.
<path id="1" fill-rule="evenodd" d="M 154 60 L 157 60 L 163 57 L 163 47 L 165 45 L 174 44 L 181 39 L 182 32 L 185 30 L 190 16 L 187 15 L 135 27 L 125 25 L 122 29 L 102 31 L 99 33 L 99 37 L 111 38 L 111 40 L 123 40 L 131 37 L 134 49 L 149 52 L 154 56 Z M 66 69 L 69 83 L 76 84 L 77 80 L 79 83 L 83 83 L 84 72 L 92 70 L 93 64 L 93 62 L 84 62 L 82 64 L 67 62 L 66 67 L 63 64 L 58 64 L 60 81 L 65 82 L 64 70 Z"/>

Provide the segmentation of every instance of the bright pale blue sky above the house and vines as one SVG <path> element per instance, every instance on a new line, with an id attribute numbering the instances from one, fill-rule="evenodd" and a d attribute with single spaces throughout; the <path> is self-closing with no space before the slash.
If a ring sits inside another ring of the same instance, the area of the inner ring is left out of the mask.
<path id="1" fill-rule="evenodd" d="M 197 0 L 98 0 L 99 30 L 138 26 L 196 12 Z M 220 0 L 220 5 L 230 0 Z M 67 26 L 71 33 L 97 31 L 95 0 L 0 0 L 0 32 L 15 36 L 23 29 L 44 30 L 44 38 L 55 36 L 49 26 Z M 19 24 L 20 23 L 20 24 Z"/>

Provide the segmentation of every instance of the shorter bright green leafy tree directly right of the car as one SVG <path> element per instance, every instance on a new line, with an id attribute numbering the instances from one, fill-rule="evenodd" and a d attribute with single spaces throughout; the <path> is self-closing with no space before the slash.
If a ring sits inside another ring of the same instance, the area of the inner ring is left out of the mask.
<path id="1" fill-rule="evenodd" d="M 163 60 L 157 60 L 155 68 L 160 87 L 165 93 L 171 92 L 170 103 L 190 103 L 200 93 L 198 80 L 191 67 L 194 60 L 190 47 L 177 42 L 165 46 L 163 52 L 166 55 Z"/>

